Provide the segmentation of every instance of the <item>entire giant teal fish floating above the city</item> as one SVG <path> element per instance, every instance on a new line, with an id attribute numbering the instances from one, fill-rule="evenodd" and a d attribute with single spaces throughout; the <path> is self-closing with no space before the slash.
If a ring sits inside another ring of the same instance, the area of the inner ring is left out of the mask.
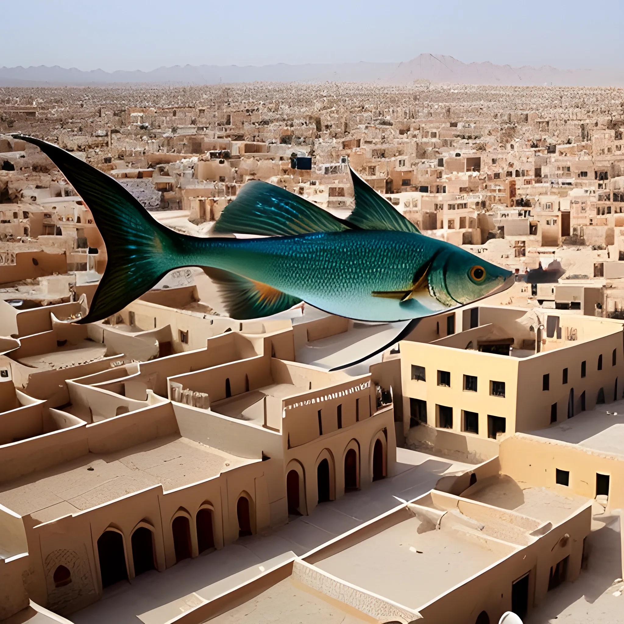
<path id="1" fill-rule="evenodd" d="M 399 336 L 424 316 L 478 301 L 514 281 L 511 271 L 423 235 L 353 169 L 355 208 L 345 219 L 251 180 L 215 223 L 213 233 L 230 236 L 200 238 L 162 225 L 114 178 L 69 152 L 14 136 L 51 158 L 104 240 L 104 275 L 77 323 L 116 314 L 169 271 L 186 266 L 210 276 L 235 319 L 263 318 L 304 302 L 357 321 L 409 321 Z"/>

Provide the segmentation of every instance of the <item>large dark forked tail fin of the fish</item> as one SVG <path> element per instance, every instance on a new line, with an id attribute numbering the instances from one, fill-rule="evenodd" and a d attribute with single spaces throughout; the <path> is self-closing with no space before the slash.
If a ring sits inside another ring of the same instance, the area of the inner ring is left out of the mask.
<path id="1" fill-rule="evenodd" d="M 114 178 L 56 145 L 24 135 L 61 170 L 93 215 L 104 239 L 107 264 L 89 313 L 78 323 L 94 323 L 117 313 L 185 263 L 188 236 L 173 232 Z"/>

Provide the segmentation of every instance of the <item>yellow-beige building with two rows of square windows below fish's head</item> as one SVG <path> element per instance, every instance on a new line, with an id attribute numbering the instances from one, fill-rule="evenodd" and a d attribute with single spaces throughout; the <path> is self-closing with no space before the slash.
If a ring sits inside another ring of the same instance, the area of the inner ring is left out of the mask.
<path id="1" fill-rule="evenodd" d="M 444 329 L 443 338 L 400 344 L 408 442 L 484 459 L 500 434 L 542 429 L 622 397 L 621 321 L 479 306 L 447 315 Z"/>

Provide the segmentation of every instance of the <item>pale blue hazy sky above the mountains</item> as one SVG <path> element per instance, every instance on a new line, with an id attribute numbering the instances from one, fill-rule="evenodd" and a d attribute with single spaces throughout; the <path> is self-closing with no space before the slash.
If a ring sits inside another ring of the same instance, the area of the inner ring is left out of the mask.
<path id="1" fill-rule="evenodd" d="M 460 61 L 620 70 L 624 0 L 0 0 L 0 66 Z"/>

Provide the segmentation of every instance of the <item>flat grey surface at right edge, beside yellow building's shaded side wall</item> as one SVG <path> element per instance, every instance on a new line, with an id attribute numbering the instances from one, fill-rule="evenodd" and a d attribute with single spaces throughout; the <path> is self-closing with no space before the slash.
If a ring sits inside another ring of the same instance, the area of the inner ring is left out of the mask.
<path id="1" fill-rule="evenodd" d="M 624 401 L 597 405 L 532 436 L 578 444 L 592 451 L 624 456 Z"/>

